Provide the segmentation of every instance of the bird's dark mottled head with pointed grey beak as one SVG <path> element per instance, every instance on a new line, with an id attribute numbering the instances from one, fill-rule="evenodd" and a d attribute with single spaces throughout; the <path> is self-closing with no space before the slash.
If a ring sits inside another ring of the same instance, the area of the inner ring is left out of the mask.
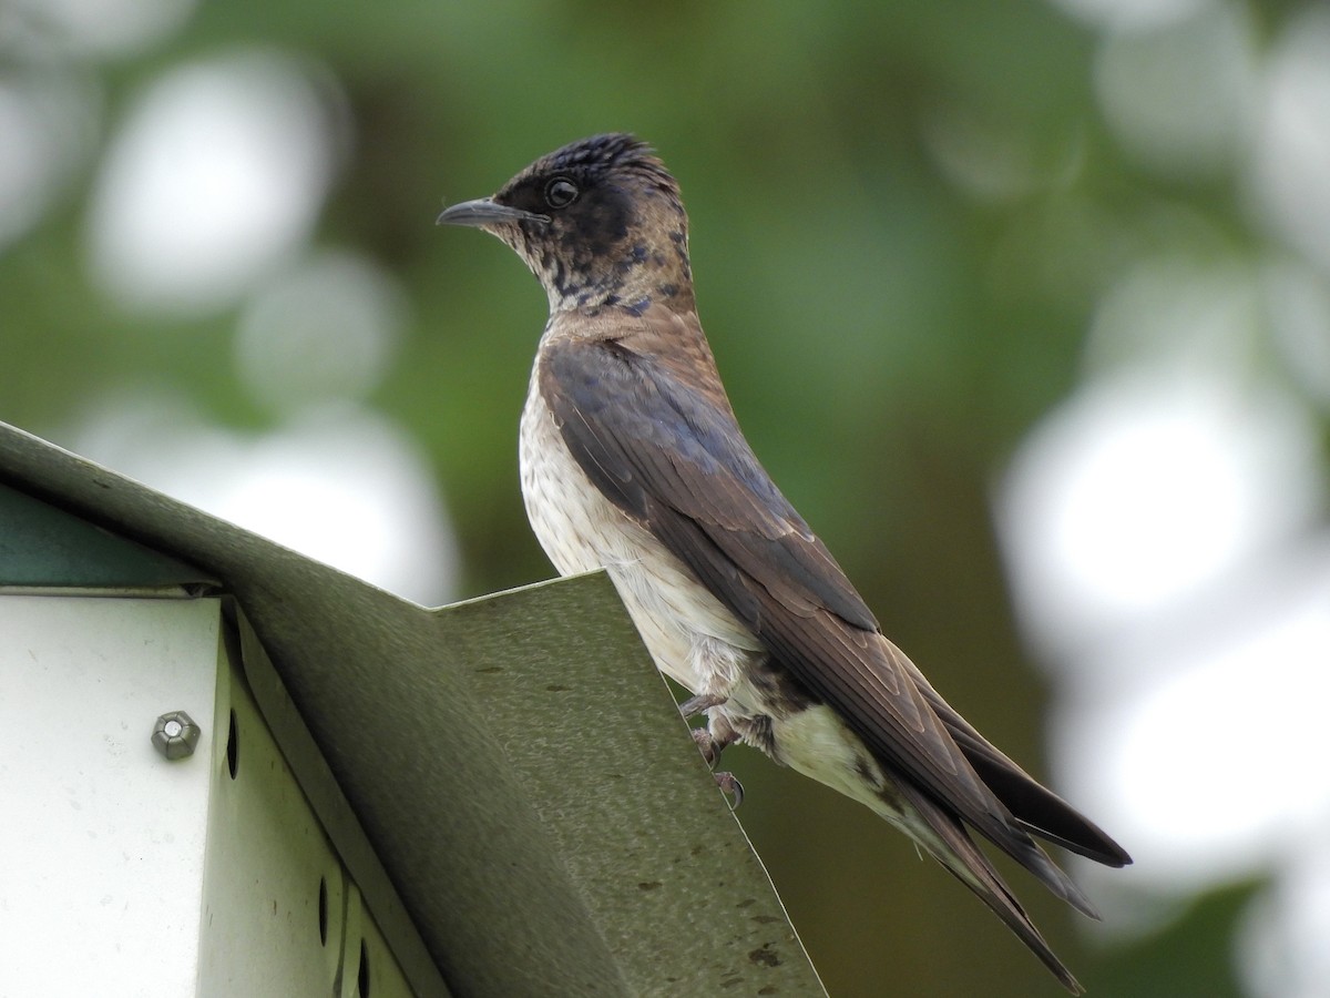
<path id="1" fill-rule="evenodd" d="M 512 246 L 544 285 L 551 311 L 693 303 L 678 184 L 633 136 L 565 145 L 492 197 L 446 209 L 439 222 Z"/>

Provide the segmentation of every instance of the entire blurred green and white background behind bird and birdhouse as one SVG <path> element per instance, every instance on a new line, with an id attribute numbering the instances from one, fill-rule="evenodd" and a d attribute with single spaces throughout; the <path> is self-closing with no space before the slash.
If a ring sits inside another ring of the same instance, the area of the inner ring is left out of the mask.
<path id="1" fill-rule="evenodd" d="M 1330 995 L 1318 0 L 7 0 L 0 419 L 420 603 L 548 578 L 545 298 L 434 218 L 609 129 L 682 182 L 774 478 L 1134 854 L 1071 864 L 1103 923 L 1013 874 L 1091 993 Z M 1059 993 L 866 810 L 726 762 L 833 995 Z"/>

